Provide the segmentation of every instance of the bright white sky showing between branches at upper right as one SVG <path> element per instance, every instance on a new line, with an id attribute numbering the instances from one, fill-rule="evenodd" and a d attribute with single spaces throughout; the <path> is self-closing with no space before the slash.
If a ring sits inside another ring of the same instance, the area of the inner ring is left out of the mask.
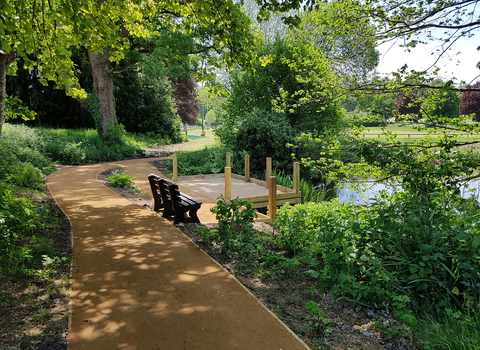
<path id="1" fill-rule="evenodd" d="M 462 38 L 456 42 L 455 48 L 436 64 L 441 69 L 439 75 L 445 80 L 456 78 L 456 83 L 465 81 L 467 84 L 473 84 L 480 81 L 480 70 L 476 68 L 477 62 L 480 61 L 477 46 L 480 46 L 480 43 L 476 36 Z M 427 69 L 435 62 L 437 58 L 435 52 L 439 46 L 438 43 L 420 44 L 417 48 L 411 49 L 411 52 L 405 52 L 398 44 L 385 43 L 377 49 L 381 53 L 377 70 L 380 73 L 390 73 L 404 64 L 407 64 L 409 70 Z"/>

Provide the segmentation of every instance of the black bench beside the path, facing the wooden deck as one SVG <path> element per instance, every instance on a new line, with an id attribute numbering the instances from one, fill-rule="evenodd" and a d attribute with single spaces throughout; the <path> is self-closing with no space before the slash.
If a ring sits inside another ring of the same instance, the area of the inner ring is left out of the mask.
<path id="1" fill-rule="evenodd" d="M 148 176 L 154 199 L 154 211 L 163 208 L 163 217 L 175 215 L 174 224 L 180 222 L 199 224 L 197 211 L 202 202 L 178 190 L 178 185 L 155 174 Z M 188 213 L 188 216 L 187 216 Z"/>

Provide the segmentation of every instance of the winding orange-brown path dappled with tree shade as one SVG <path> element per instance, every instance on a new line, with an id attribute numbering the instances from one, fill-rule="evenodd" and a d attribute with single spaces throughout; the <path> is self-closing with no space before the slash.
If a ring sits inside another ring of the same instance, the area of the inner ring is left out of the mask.
<path id="1" fill-rule="evenodd" d="M 96 180 L 122 166 L 150 192 L 149 160 L 69 167 L 48 181 L 73 229 L 69 350 L 308 349 L 178 228 Z M 213 204 L 199 199 L 208 215 Z"/>

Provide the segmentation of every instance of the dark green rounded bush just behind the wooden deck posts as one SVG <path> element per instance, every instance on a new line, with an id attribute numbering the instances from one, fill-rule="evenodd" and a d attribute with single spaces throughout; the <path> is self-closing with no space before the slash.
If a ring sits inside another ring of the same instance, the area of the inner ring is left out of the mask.
<path id="1" fill-rule="evenodd" d="M 242 122 L 233 142 L 233 148 L 250 155 L 250 172 L 263 178 L 265 159 L 272 158 L 272 166 L 286 171 L 292 167 L 291 151 L 286 147 L 294 141 L 295 131 L 283 114 L 255 111 Z"/>

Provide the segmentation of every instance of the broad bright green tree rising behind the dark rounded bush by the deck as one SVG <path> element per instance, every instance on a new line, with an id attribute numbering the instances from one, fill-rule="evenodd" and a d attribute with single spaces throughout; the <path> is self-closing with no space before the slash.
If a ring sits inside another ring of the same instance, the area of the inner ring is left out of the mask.
<path id="1" fill-rule="evenodd" d="M 230 145 L 239 122 L 252 111 L 285 112 L 297 132 L 322 133 L 339 125 L 341 111 L 331 82 L 334 76 L 320 49 L 309 43 L 277 39 L 259 48 L 254 72 L 234 72 L 227 115 L 215 134 Z"/>

